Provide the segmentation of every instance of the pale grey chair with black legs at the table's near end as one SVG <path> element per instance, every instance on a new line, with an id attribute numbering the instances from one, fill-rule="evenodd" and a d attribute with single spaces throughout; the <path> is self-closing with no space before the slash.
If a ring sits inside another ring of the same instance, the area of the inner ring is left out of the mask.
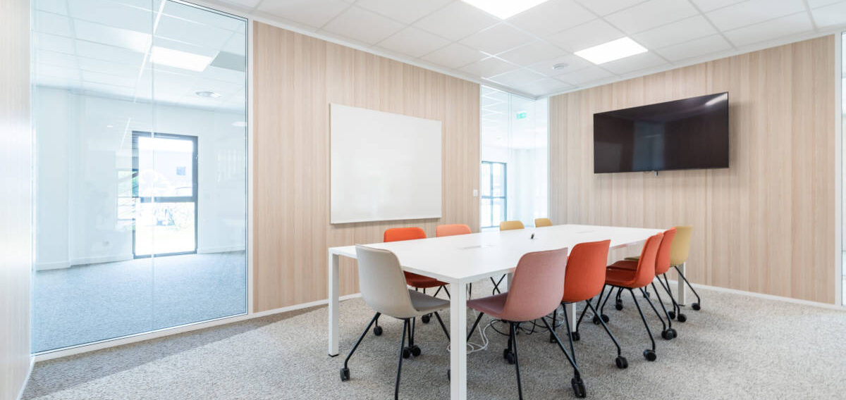
<path id="1" fill-rule="evenodd" d="M 399 342 L 397 381 L 393 388 L 393 398 L 396 400 L 399 397 L 399 375 L 403 368 L 403 359 L 408 359 L 411 354 L 420 355 L 420 348 L 415 345 L 412 321 L 421 315 L 434 313 L 437 321 L 441 323 L 443 333 L 449 339 L 447 326 L 443 325 L 441 315 L 437 313 L 448 308 L 449 302 L 409 289 L 405 285 L 405 277 L 401 273 L 399 260 L 392 252 L 357 245 L 355 246 L 355 254 L 359 264 L 361 297 L 371 309 L 376 311 L 376 315 L 373 315 L 373 319 L 367 324 L 364 332 L 361 332 L 359 340 L 355 342 L 347 358 L 343 360 L 341 381 L 349 381 L 349 359 L 355 353 L 355 349 L 359 348 L 362 339 L 370 331 L 371 326 L 376 323 L 380 315 L 392 316 L 403 320 L 403 335 Z M 406 337 L 409 340 L 408 347 L 405 346 Z"/>

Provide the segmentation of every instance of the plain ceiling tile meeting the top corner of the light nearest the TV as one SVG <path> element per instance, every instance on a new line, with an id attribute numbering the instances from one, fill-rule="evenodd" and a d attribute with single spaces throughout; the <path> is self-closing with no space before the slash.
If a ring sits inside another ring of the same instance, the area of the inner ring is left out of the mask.
<path id="1" fill-rule="evenodd" d="M 698 14 L 689 2 L 679 0 L 650 0 L 617 13 L 605 19 L 629 35 L 656 26 L 667 25 Z"/>

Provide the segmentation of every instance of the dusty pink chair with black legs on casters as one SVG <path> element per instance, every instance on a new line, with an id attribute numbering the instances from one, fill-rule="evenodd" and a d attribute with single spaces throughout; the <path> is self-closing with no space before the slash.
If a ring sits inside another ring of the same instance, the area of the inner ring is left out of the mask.
<path id="1" fill-rule="evenodd" d="M 508 348 L 503 351 L 503 358 L 508 364 L 514 364 L 517 370 L 517 391 L 519 398 L 523 398 L 523 384 L 520 381 L 520 364 L 517 355 L 517 330 L 519 324 L 540 319 L 547 326 L 552 337 L 558 342 L 558 348 L 567 356 L 573 366 L 574 376 L 570 380 L 576 397 L 585 397 L 585 383 L 581 380 L 579 367 L 573 357 L 567 353 L 558 335 L 544 318 L 558 308 L 564 293 L 564 274 L 567 266 L 567 249 L 538 251 L 528 253 L 520 258 L 514 270 L 514 280 L 508 292 L 496 294 L 482 299 L 473 299 L 467 305 L 479 312 L 468 340 L 475 327 L 479 325 L 482 315 L 508 322 Z"/>

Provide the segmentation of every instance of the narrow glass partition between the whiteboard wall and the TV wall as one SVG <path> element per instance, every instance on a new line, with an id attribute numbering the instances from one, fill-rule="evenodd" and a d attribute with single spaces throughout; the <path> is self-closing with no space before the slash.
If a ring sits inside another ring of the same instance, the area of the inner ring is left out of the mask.
<path id="1" fill-rule="evenodd" d="M 480 224 L 547 217 L 547 99 L 481 88 Z"/>

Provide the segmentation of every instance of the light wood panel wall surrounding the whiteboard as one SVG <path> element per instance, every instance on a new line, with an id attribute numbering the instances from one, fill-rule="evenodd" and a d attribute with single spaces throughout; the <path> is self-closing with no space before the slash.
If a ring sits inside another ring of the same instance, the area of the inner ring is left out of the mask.
<path id="1" fill-rule="evenodd" d="M 327 298 L 327 248 L 387 227 L 479 228 L 479 85 L 327 41 L 254 25 L 254 310 Z M 443 217 L 329 223 L 329 104 L 442 121 Z M 358 291 L 343 260 L 341 293 Z"/>

